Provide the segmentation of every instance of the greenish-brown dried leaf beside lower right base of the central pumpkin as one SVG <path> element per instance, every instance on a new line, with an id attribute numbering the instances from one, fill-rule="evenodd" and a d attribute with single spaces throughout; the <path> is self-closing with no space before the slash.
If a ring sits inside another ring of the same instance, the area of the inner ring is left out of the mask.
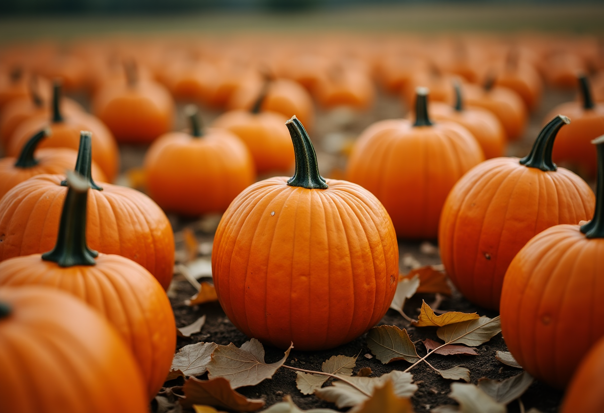
<path id="1" fill-rule="evenodd" d="M 367 333 L 367 346 L 382 363 L 406 360 L 414 363 L 419 360 L 417 350 L 407 331 L 396 325 L 380 325 Z"/>

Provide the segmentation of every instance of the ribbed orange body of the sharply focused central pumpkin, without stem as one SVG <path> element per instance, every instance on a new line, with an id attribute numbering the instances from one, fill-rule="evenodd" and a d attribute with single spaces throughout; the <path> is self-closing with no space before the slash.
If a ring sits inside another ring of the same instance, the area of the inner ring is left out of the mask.
<path id="1" fill-rule="evenodd" d="M 251 185 L 222 216 L 214 286 L 247 336 L 279 348 L 333 348 L 388 310 L 399 271 L 396 234 L 359 185 L 327 179 L 326 190 L 309 190 L 288 179 Z"/>

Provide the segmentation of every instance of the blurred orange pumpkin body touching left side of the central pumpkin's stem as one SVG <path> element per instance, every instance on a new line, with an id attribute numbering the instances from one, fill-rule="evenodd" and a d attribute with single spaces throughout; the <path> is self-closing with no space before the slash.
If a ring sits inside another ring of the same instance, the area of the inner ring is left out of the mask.
<path id="1" fill-rule="evenodd" d="M 294 166 L 294 146 L 285 122 L 277 112 L 252 114 L 231 110 L 217 118 L 213 126 L 228 129 L 245 143 L 258 173 L 289 171 Z"/>

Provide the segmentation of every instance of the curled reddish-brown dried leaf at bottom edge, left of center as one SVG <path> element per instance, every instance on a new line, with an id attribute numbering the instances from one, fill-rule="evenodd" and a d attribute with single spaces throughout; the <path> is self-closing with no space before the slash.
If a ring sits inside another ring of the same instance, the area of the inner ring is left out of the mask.
<path id="1" fill-rule="evenodd" d="M 193 408 L 193 405 L 218 406 L 238 412 L 252 412 L 265 405 L 262 399 L 248 399 L 231 388 L 231 384 L 223 377 L 210 380 L 199 380 L 190 377 L 182 386 L 185 398 L 181 405 Z"/>

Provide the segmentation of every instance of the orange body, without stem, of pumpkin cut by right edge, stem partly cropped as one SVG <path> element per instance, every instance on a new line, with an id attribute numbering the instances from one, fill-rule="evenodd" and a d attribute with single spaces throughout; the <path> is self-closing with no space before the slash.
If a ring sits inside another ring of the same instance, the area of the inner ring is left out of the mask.
<path id="1" fill-rule="evenodd" d="M 604 239 L 587 239 L 579 228 L 557 225 L 536 235 L 513 259 L 501 291 L 510 353 L 557 389 L 604 336 Z"/>

